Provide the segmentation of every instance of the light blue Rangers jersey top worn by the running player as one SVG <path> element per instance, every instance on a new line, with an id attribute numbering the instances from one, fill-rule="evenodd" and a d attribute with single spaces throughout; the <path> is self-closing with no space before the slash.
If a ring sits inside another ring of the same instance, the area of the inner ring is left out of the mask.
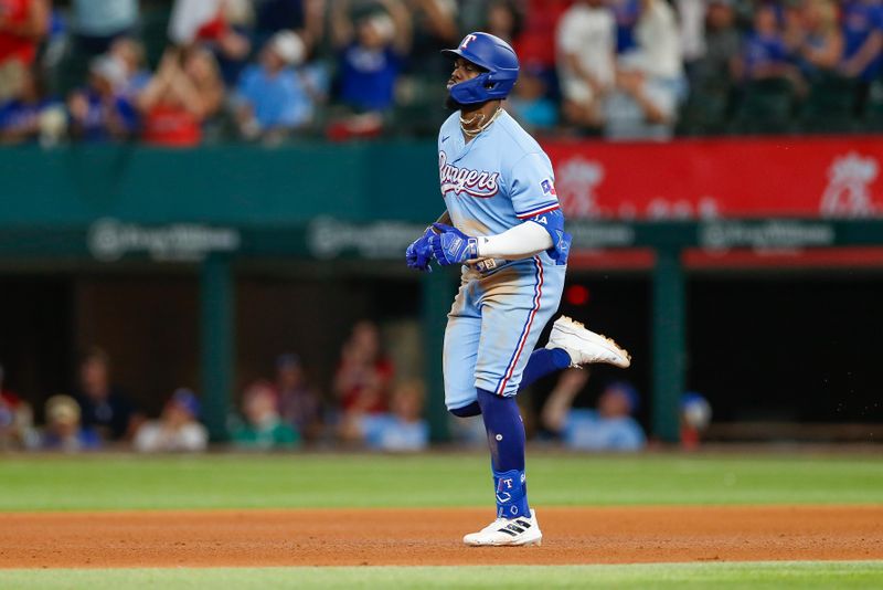
<path id="1" fill-rule="evenodd" d="M 442 196 L 458 230 L 496 235 L 560 208 L 552 162 L 515 119 L 502 112 L 467 144 L 459 117 L 454 113 L 438 134 Z"/>

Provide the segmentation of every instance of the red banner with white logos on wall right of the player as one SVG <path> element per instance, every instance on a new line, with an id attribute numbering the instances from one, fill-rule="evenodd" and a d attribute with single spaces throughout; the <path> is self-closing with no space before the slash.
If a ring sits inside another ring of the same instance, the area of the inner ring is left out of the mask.
<path id="1" fill-rule="evenodd" d="M 870 136 L 544 141 L 568 219 L 883 215 Z"/>

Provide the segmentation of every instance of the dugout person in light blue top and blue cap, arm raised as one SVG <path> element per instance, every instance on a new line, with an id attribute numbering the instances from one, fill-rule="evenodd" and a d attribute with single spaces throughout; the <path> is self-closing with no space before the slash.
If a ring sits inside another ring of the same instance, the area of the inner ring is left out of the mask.
<path id="1" fill-rule="evenodd" d="M 619 381 L 607 386 L 598 409 L 574 409 L 573 402 L 588 381 L 588 371 L 567 369 L 558 378 L 542 411 L 543 425 L 564 444 L 585 451 L 640 451 L 647 438 L 631 418 L 639 398 L 635 388 Z"/>

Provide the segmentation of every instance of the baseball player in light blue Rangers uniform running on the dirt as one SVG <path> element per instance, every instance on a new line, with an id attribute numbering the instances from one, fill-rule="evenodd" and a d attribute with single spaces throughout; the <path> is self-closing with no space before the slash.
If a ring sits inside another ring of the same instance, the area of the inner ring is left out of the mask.
<path id="1" fill-rule="evenodd" d="M 406 252 L 408 266 L 432 259 L 461 264 L 445 330 L 445 403 L 453 414 L 481 414 L 490 444 L 497 519 L 464 537 L 471 546 L 540 545 L 528 503 L 524 425 L 515 393 L 566 367 L 630 358 L 613 340 L 561 317 L 545 348 L 533 351 L 561 299 L 571 236 L 549 157 L 502 108 L 515 84 L 518 56 L 488 33 L 445 50 L 454 59 L 438 134 L 447 211 Z M 533 351 L 533 352 L 532 352 Z"/>

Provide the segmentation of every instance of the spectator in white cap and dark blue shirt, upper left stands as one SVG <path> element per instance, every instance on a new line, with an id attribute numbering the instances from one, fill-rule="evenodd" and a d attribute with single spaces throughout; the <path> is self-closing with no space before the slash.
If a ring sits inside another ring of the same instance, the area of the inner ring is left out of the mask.
<path id="1" fill-rule="evenodd" d="M 138 130 L 138 113 L 126 88 L 126 70 L 110 55 L 95 57 L 88 86 L 67 99 L 70 133 L 86 141 L 128 139 Z"/>

